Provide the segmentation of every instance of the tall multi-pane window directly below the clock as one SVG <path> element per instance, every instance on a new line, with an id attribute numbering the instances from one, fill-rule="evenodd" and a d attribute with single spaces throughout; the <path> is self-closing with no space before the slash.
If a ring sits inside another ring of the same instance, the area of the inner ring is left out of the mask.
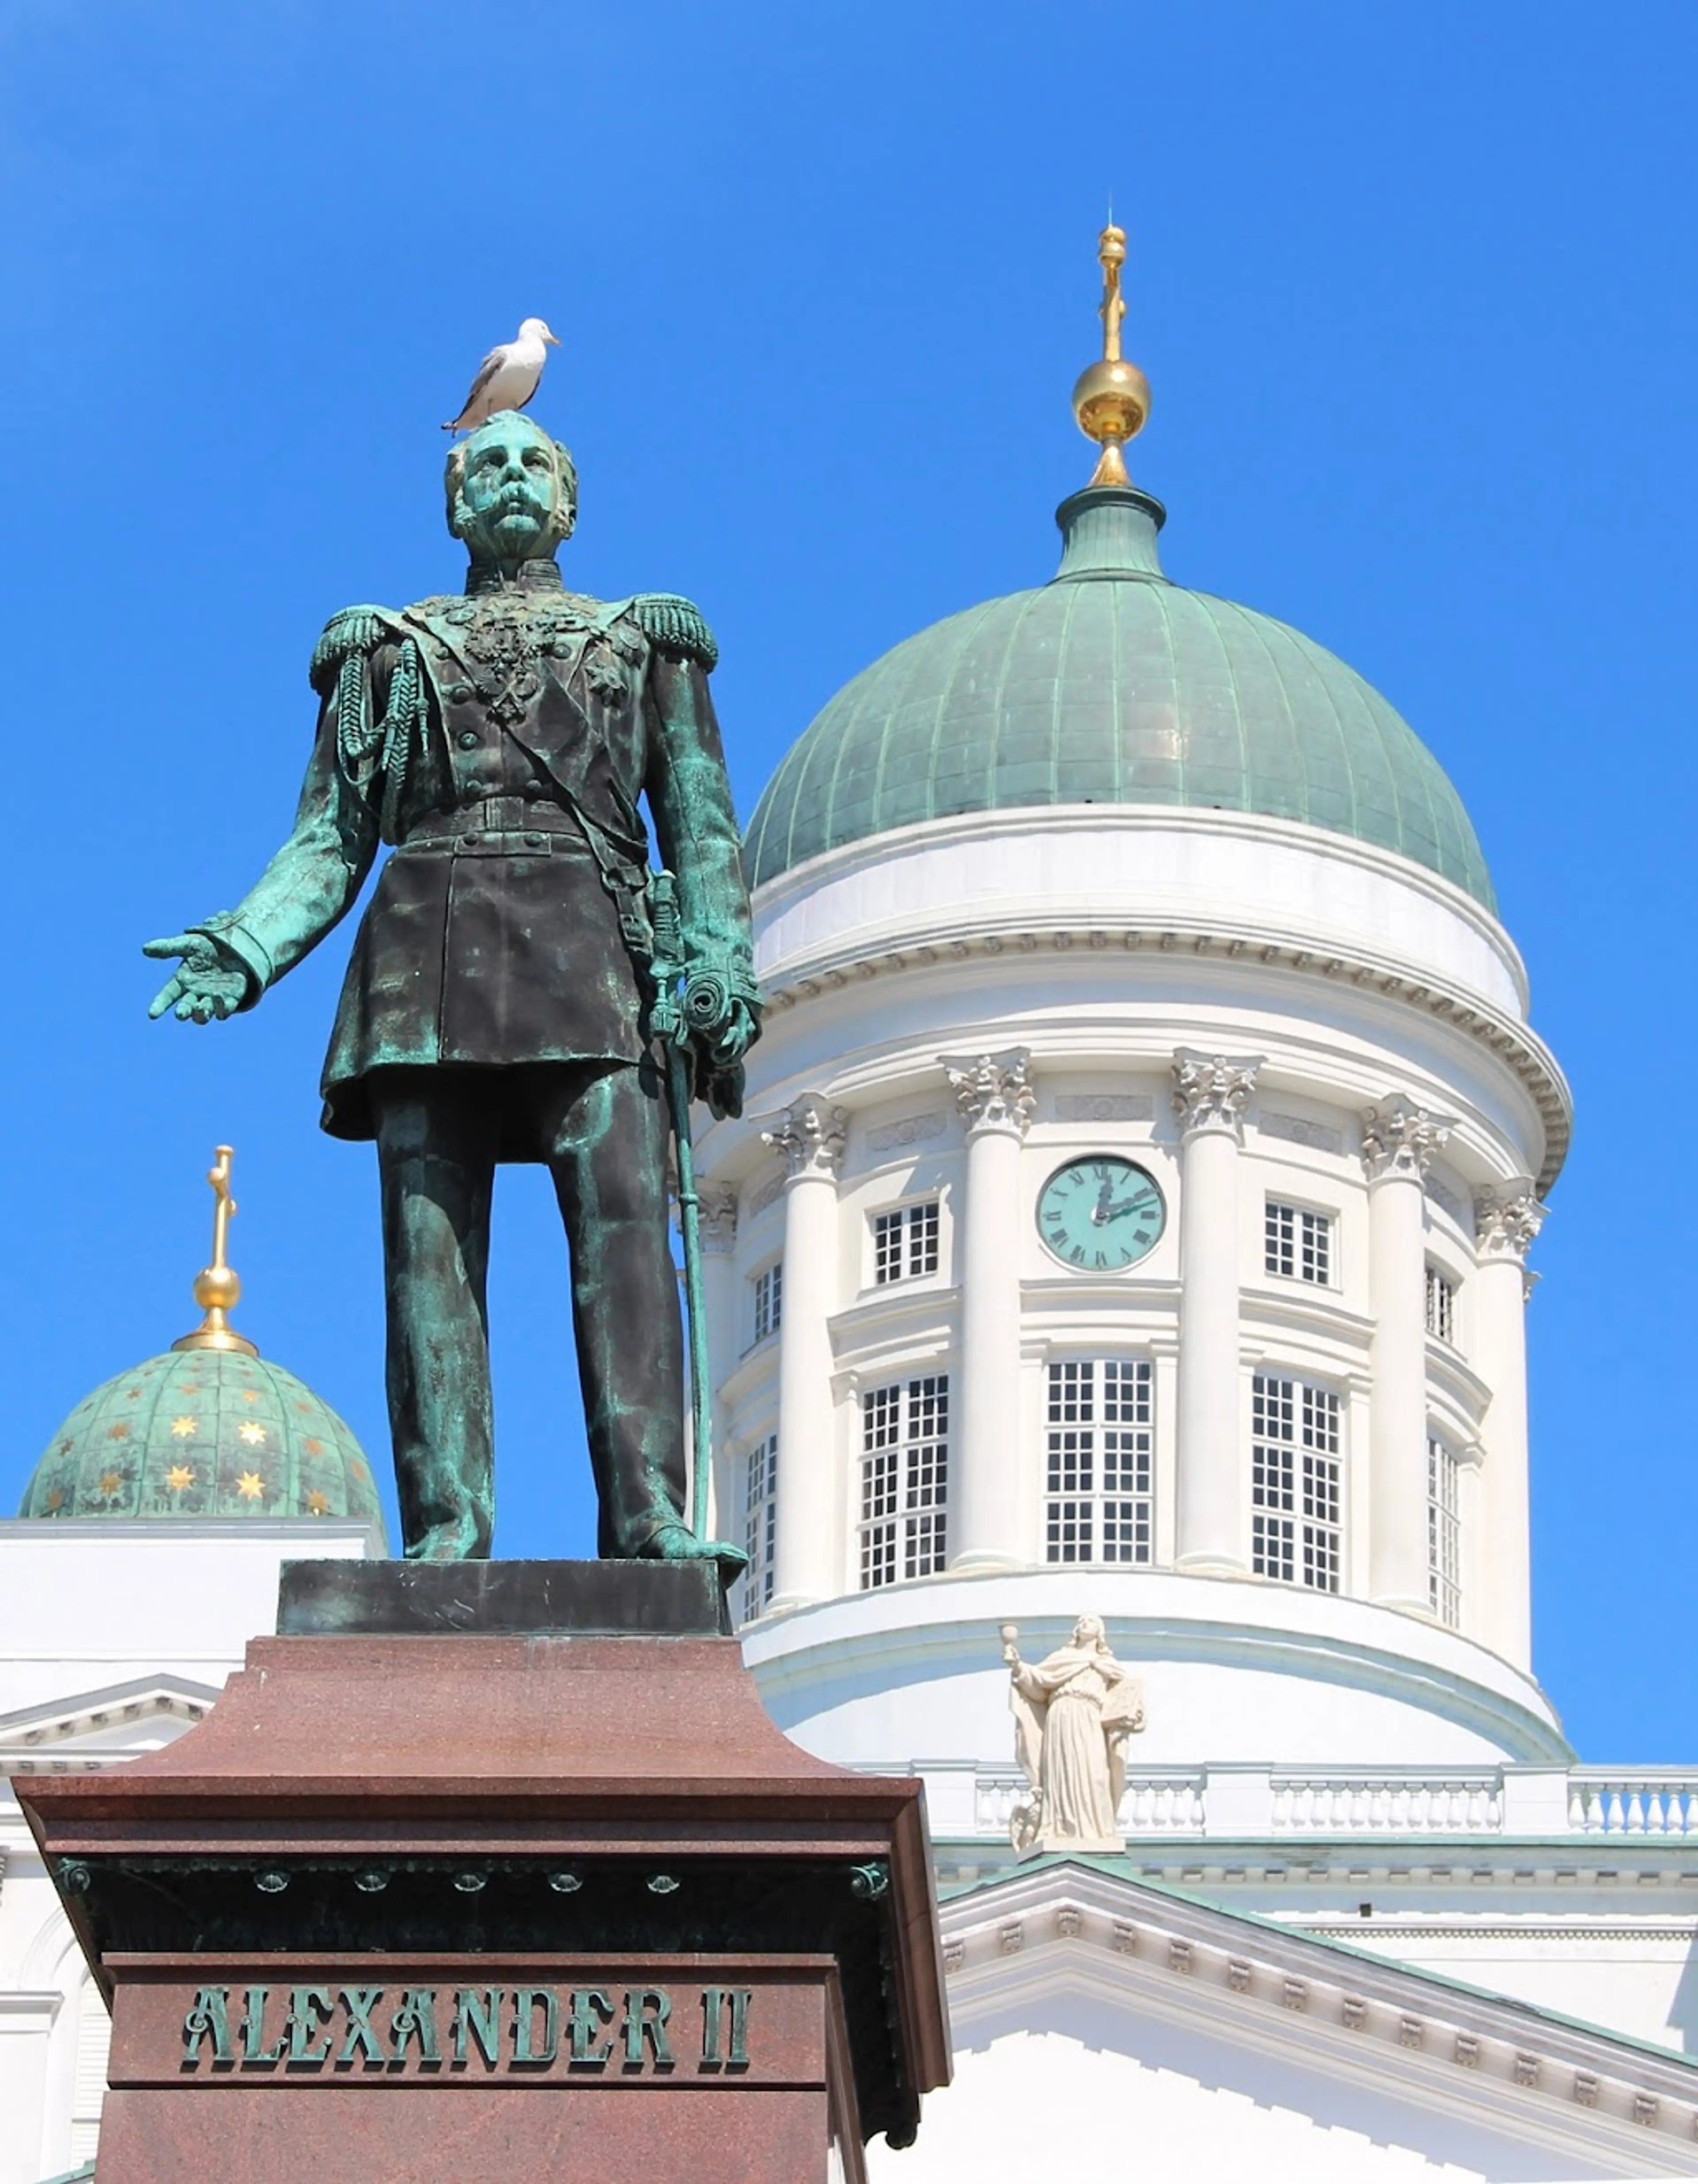
<path id="1" fill-rule="evenodd" d="M 1147 1358 L 1049 1367 L 1045 1559 L 1149 1562 L 1154 1446 Z"/>

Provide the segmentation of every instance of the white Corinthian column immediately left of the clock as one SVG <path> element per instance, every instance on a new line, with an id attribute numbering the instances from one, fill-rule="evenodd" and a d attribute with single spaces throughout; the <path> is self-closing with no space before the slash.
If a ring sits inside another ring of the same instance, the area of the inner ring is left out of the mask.
<path id="1" fill-rule="evenodd" d="M 966 1118 L 948 1566 L 1010 1570 L 1034 1559 L 1021 1535 L 1021 1144 L 1038 1105 L 1031 1055 L 1010 1046 L 940 1059 Z"/>

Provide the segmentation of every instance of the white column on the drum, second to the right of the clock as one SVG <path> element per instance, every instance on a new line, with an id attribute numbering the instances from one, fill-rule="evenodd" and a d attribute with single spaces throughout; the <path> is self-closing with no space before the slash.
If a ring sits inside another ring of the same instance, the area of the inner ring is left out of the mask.
<path id="1" fill-rule="evenodd" d="M 1431 1614 L 1427 1588 L 1427 1162 L 1451 1118 L 1390 1099 L 1361 1118 L 1368 1175 L 1372 1431 L 1368 1439 L 1368 1597 Z M 1351 1465 L 1353 1472 L 1357 1465 Z M 1359 1472 L 1357 1472 L 1359 1476 Z"/>

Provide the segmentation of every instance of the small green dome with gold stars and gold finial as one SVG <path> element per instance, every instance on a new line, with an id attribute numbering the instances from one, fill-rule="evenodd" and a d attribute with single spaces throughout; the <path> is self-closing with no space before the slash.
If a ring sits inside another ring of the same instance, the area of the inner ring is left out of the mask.
<path id="1" fill-rule="evenodd" d="M 382 1535 L 372 1465 L 310 1387 L 229 1326 L 240 1282 L 225 1265 L 229 1149 L 212 1265 L 194 1282 L 201 1326 L 85 1396 L 48 1441 L 20 1518 L 356 1518 Z"/>

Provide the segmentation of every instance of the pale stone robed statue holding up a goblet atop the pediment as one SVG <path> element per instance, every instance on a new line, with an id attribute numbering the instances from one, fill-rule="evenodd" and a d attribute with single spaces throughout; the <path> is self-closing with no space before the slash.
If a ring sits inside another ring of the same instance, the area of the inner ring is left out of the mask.
<path id="1" fill-rule="evenodd" d="M 1125 1738 L 1143 1728 L 1143 1693 L 1108 1651 L 1101 1616 L 1080 1616 L 1073 1638 L 1036 1666 L 1018 1629 L 1003 1625 L 1014 1752 L 1031 1795 L 1014 1808 L 1014 1848 L 1125 1850 L 1119 1828 Z"/>

